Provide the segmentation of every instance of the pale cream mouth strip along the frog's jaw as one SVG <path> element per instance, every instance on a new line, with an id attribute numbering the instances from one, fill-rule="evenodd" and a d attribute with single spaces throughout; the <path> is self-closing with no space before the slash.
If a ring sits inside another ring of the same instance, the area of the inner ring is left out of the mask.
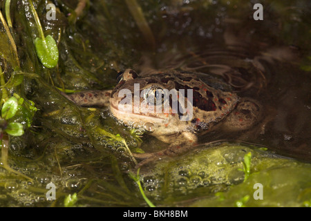
<path id="1" fill-rule="evenodd" d="M 111 113 L 117 117 L 117 119 L 122 119 L 129 122 L 153 122 L 156 124 L 164 124 L 167 119 L 157 116 L 150 116 L 144 113 L 131 113 L 129 111 L 120 111 L 117 106 L 113 104 L 110 105 Z"/>

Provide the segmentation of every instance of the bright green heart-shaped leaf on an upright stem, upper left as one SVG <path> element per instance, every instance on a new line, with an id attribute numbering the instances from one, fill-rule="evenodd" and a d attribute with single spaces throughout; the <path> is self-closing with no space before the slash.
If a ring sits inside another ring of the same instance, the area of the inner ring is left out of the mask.
<path id="1" fill-rule="evenodd" d="M 46 68 L 54 68 L 58 62 L 58 48 L 52 36 L 46 36 L 46 39 L 35 39 L 37 56 Z"/>

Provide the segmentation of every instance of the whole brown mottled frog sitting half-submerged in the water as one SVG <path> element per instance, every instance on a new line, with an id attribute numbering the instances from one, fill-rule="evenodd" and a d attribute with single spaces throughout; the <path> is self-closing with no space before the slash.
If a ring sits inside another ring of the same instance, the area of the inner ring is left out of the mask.
<path id="1" fill-rule="evenodd" d="M 162 151 L 133 153 L 142 160 L 138 166 L 196 148 L 202 131 L 219 127 L 225 131 L 247 131 L 259 122 L 262 113 L 261 104 L 238 96 L 223 79 L 211 73 L 184 70 L 140 76 L 135 70 L 126 69 L 117 75 L 113 90 L 88 90 L 65 96 L 79 106 L 108 106 L 124 124 L 143 127 L 169 144 Z"/>

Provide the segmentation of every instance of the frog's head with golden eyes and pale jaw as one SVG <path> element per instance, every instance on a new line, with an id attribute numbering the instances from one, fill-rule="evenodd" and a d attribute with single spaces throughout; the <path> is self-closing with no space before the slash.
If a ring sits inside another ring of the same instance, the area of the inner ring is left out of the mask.
<path id="1" fill-rule="evenodd" d="M 182 114 L 174 109 L 173 104 L 180 105 L 180 100 L 174 103 L 172 97 L 178 97 L 179 94 L 173 94 L 173 79 L 169 79 L 167 75 L 158 73 L 139 77 L 134 70 L 126 69 L 118 74 L 117 81 L 110 98 L 111 112 L 117 119 L 140 125 L 151 123 L 154 127 L 170 124 L 170 130 L 173 124 L 176 126 L 174 130 L 180 131 L 180 126 L 185 125 L 185 122 L 180 121 L 180 115 L 189 119 L 192 117 L 187 110 Z M 184 100 L 187 102 L 187 92 Z M 189 102 L 185 102 L 185 107 L 188 108 Z M 189 109 L 190 107 L 191 105 Z"/>

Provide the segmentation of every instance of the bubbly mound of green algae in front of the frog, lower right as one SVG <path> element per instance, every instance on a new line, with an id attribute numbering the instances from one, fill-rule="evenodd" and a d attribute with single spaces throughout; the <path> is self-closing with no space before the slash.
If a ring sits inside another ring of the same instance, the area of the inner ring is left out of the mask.
<path id="1" fill-rule="evenodd" d="M 252 162 L 245 180 L 247 153 Z M 220 144 L 158 163 L 142 180 L 147 197 L 162 206 L 304 206 L 311 197 L 310 169 L 310 164 L 256 146 Z"/>

